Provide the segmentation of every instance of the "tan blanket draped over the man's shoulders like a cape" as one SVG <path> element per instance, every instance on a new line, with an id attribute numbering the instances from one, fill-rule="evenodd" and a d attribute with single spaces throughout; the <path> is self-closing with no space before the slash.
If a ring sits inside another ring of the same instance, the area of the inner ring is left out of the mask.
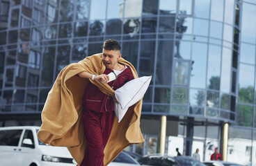
<path id="1" fill-rule="evenodd" d="M 102 74 L 106 69 L 102 56 L 102 53 L 95 54 L 63 68 L 49 91 L 42 110 L 42 125 L 38 138 L 52 146 L 67 147 L 78 165 L 81 164 L 86 151 L 81 103 L 88 82 L 98 86 L 106 95 L 115 96 L 108 84 L 77 76 L 82 71 Z M 134 78 L 138 77 L 134 66 L 125 59 L 118 59 L 118 63 L 129 66 Z M 140 128 L 141 107 L 142 99 L 129 107 L 120 123 L 115 117 L 111 136 L 104 149 L 104 165 L 109 165 L 125 147 L 144 141 Z"/>

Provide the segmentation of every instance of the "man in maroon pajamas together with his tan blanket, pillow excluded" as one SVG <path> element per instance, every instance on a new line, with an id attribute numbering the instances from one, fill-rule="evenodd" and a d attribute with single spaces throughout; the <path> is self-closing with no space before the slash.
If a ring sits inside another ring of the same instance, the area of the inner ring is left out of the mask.
<path id="1" fill-rule="evenodd" d="M 120 49 L 116 40 L 106 40 L 103 53 L 65 66 L 48 93 L 38 138 L 67 147 L 78 165 L 109 165 L 125 147 L 144 142 L 142 99 L 129 107 L 121 122 L 114 115 L 115 89 L 138 77 Z M 117 77 L 108 82 L 111 72 Z"/>

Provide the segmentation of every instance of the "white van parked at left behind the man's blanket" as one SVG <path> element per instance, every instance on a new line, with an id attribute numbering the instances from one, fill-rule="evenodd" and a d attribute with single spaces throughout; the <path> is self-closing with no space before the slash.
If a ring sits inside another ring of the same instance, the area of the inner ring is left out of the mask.
<path id="1" fill-rule="evenodd" d="M 74 166 L 66 147 L 52 147 L 38 140 L 40 127 L 0 127 L 0 165 Z"/>

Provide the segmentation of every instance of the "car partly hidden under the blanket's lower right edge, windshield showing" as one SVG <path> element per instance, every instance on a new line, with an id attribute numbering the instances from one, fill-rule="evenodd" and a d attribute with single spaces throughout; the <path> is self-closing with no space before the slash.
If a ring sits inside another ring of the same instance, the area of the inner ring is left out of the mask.
<path id="1" fill-rule="evenodd" d="M 109 166 L 135 166 L 140 165 L 133 157 L 126 151 L 122 151 Z"/>

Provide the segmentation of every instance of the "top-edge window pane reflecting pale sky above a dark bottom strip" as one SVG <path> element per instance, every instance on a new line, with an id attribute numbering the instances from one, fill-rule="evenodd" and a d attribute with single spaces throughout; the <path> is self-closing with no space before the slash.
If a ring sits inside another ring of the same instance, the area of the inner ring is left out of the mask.
<path id="1" fill-rule="evenodd" d="M 159 14 L 160 15 L 174 15 L 176 13 L 177 0 L 160 0 Z"/>

